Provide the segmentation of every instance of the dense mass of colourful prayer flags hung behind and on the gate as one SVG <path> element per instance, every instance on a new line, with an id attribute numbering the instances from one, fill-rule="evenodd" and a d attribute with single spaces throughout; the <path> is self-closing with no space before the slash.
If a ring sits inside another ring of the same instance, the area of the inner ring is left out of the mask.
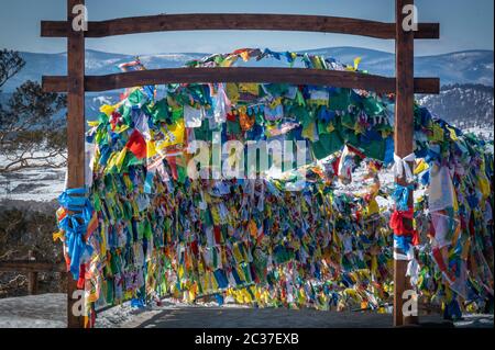
<path id="1" fill-rule="evenodd" d="M 257 61 L 365 72 L 359 58 L 270 49 L 186 66 Z M 145 69 L 139 60 L 121 68 Z M 409 261 L 422 303 L 452 317 L 493 311 L 493 142 L 417 104 L 414 113 L 415 151 L 400 159 L 394 95 L 285 83 L 128 89 L 88 122 L 86 187 L 59 197 L 55 238 L 85 291 L 86 326 L 102 306 L 165 296 L 385 312 L 394 259 Z M 297 143 L 304 163 L 274 173 L 271 156 L 253 179 L 215 177 L 210 161 L 209 177 L 189 176 L 193 143 L 232 140 Z"/>

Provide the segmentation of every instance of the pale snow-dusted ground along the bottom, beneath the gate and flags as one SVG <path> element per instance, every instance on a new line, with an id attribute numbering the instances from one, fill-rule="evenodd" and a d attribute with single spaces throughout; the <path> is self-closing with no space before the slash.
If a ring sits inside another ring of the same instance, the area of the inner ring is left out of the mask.
<path id="1" fill-rule="evenodd" d="M 65 328 L 65 294 L 44 294 L 0 300 L 0 328 Z M 460 328 L 493 328 L 493 315 L 468 315 Z M 442 325 L 438 315 L 421 323 Z M 318 312 L 315 309 L 251 308 L 216 303 L 187 305 L 165 300 L 161 306 L 134 308 L 131 303 L 99 314 L 97 328 L 376 328 L 391 327 L 391 314 L 372 312 Z"/>

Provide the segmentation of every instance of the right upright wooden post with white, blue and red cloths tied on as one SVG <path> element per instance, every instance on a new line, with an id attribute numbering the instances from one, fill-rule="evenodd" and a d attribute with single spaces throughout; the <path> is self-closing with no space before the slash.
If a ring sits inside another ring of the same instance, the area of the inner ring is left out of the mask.
<path id="1" fill-rule="evenodd" d="M 395 101 L 395 154 L 407 157 L 414 151 L 414 31 L 405 31 L 403 22 L 408 15 L 403 13 L 406 5 L 414 0 L 396 0 L 396 101 Z M 413 169 L 413 163 L 409 165 Z M 406 179 L 396 179 L 400 185 L 406 185 Z M 409 193 L 409 207 L 414 205 L 413 191 Z M 413 222 L 405 222 L 406 227 L 413 227 Z M 394 260 L 394 326 L 417 323 L 417 317 L 404 317 L 403 294 L 410 289 L 406 278 L 407 261 Z"/>

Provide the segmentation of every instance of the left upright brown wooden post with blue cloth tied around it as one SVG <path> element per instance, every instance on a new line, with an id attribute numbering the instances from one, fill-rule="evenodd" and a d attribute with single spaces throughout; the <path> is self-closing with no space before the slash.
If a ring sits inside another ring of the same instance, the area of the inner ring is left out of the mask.
<path id="1" fill-rule="evenodd" d="M 85 0 L 67 0 L 67 189 L 85 187 L 85 32 L 75 31 L 73 13 L 76 5 L 85 4 Z M 84 317 L 74 315 L 73 306 L 77 302 L 74 292 L 77 282 L 73 275 L 67 276 L 67 327 L 84 327 Z"/>

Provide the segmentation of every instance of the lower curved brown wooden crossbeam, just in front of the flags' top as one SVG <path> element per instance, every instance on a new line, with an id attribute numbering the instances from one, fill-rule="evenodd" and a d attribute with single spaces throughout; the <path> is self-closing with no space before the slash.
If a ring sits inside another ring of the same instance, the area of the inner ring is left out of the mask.
<path id="1" fill-rule="evenodd" d="M 273 82 L 290 84 L 353 88 L 375 92 L 395 92 L 395 78 L 380 77 L 353 71 L 305 68 L 168 68 L 140 70 L 107 76 L 86 76 L 86 91 L 108 91 L 123 88 L 166 83 L 195 82 Z M 67 77 L 43 77 L 46 92 L 66 92 Z M 415 79 L 416 93 L 439 93 L 437 78 Z"/>

